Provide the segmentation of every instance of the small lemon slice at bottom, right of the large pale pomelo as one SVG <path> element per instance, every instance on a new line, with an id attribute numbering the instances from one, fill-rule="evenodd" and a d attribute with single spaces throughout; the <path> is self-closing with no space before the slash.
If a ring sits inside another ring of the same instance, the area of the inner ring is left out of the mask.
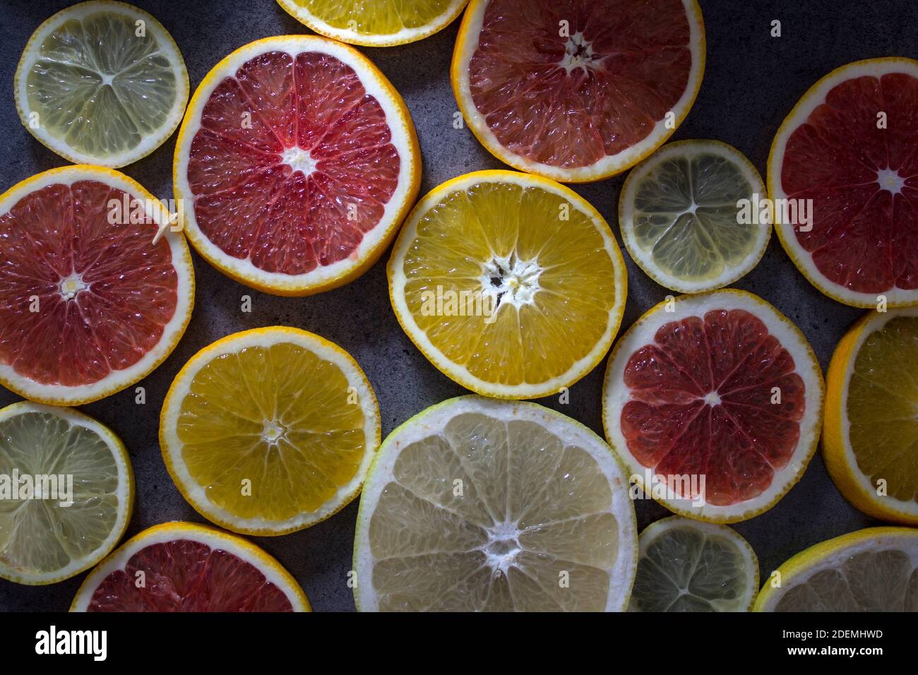
<path id="1" fill-rule="evenodd" d="M 748 612 L 758 592 L 758 558 L 726 525 L 674 515 L 638 540 L 630 612 Z"/>

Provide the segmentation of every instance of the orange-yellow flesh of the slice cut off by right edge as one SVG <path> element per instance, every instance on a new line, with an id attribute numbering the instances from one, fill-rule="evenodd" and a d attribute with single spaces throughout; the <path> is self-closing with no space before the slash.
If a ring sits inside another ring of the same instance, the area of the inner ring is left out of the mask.
<path id="1" fill-rule="evenodd" d="M 857 468 L 887 496 L 918 501 L 918 318 L 892 317 L 856 354 L 848 384 L 848 440 Z M 882 500 L 880 500 L 882 501 Z"/>

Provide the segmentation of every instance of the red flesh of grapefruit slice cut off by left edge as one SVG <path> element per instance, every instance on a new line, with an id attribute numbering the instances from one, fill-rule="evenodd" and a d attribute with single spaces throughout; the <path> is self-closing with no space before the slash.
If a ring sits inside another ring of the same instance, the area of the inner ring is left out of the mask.
<path id="1" fill-rule="evenodd" d="M 134 194 L 86 179 L 28 192 L 0 216 L 0 364 L 76 387 L 161 343 L 179 303 L 178 261 L 165 237 L 152 243 L 159 226 L 142 209 Z"/>

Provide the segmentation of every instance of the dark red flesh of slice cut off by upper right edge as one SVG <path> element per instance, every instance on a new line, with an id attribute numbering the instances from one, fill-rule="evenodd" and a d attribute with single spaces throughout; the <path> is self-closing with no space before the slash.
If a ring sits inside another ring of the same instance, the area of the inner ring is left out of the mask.
<path id="1" fill-rule="evenodd" d="M 829 287 L 867 294 L 918 288 L 916 97 L 912 74 L 851 77 L 789 135 L 779 185 L 791 199 L 812 199 L 814 224 L 792 236 Z"/>

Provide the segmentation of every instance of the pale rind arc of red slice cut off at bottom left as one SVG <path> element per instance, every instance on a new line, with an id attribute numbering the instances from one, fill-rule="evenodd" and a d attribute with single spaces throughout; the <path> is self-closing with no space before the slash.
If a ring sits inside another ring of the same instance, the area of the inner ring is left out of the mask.
<path id="1" fill-rule="evenodd" d="M 232 554 L 235 557 L 244 560 L 258 569 L 265 579 L 274 584 L 282 591 L 290 604 L 293 605 L 294 612 L 308 612 L 308 602 L 304 602 L 305 596 L 302 589 L 299 588 L 297 581 L 290 576 L 287 571 L 281 567 L 274 557 L 269 556 L 262 549 L 242 539 L 225 532 L 219 532 L 210 527 L 204 527 L 195 523 L 163 523 L 154 525 L 144 530 L 140 534 L 129 539 L 124 546 L 118 548 L 115 553 L 107 557 L 80 586 L 80 590 L 73 600 L 71 612 L 85 612 L 89 603 L 93 599 L 93 593 L 106 577 L 114 571 L 123 570 L 135 554 L 147 546 L 156 544 L 166 544 L 179 540 L 197 542 L 204 544 L 213 549 L 219 549 Z"/>

